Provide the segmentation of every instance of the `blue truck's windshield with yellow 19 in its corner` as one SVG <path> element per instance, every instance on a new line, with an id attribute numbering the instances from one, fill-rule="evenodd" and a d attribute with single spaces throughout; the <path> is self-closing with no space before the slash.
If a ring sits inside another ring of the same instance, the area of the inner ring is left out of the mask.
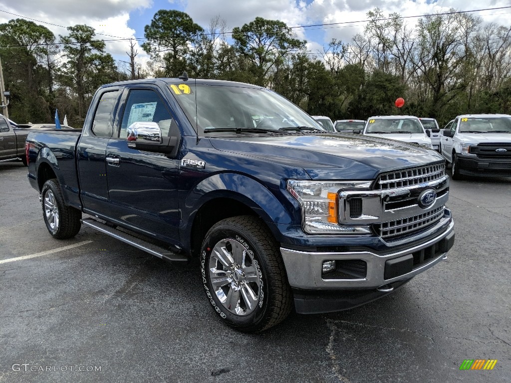
<path id="1" fill-rule="evenodd" d="M 216 129 L 323 130 L 306 112 L 268 89 L 193 83 L 169 87 L 199 135 L 204 129 L 207 133 Z"/>

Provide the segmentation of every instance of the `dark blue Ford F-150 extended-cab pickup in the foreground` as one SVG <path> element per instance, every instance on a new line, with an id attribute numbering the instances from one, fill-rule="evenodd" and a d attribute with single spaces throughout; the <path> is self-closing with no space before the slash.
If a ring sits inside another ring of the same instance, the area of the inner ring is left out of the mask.
<path id="1" fill-rule="evenodd" d="M 108 84 L 81 133 L 31 132 L 26 145 L 52 236 L 84 224 L 162 259 L 198 259 L 207 299 L 245 332 L 293 307 L 326 313 L 382 297 L 454 242 L 438 153 L 329 133 L 254 85 Z"/>

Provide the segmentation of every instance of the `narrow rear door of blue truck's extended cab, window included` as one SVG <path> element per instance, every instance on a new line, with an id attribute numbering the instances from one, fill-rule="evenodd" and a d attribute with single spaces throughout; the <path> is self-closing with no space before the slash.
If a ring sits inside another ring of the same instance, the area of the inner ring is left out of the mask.
<path id="1" fill-rule="evenodd" d="M 105 154 L 120 94 L 119 88 L 96 93 L 78 142 L 80 197 L 84 211 L 89 214 L 109 215 Z"/>

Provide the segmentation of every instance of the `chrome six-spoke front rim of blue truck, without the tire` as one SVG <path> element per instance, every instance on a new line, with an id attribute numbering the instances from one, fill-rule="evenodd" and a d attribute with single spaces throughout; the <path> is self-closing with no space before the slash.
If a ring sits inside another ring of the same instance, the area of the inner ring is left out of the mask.
<path id="1" fill-rule="evenodd" d="M 238 241 L 226 238 L 213 248 L 208 269 L 218 300 L 230 313 L 244 316 L 257 307 L 261 278 L 252 255 Z"/>

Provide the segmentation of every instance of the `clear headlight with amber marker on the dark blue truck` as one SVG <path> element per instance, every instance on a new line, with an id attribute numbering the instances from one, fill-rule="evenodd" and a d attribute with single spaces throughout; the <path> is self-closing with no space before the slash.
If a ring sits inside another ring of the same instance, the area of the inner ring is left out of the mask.
<path id="1" fill-rule="evenodd" d="M 346 233 L 358 227 L 339 225 L 339 191 L 366 188 L 372 181 L 318 182 L 288 180 L 287 190 L 296 198 L 302 210 L 302 224 L 307 233 Z M 342 206 L 342 208 L 344 208 Z M 364 229 L 364 231 L 367 231 Z"/>

